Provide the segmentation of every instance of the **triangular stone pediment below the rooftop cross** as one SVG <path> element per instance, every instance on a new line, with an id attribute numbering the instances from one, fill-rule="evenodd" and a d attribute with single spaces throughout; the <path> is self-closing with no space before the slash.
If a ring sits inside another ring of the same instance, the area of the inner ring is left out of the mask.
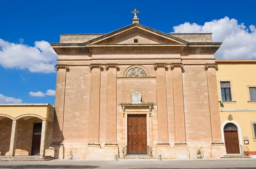
<path id="1" fill-rule="evenodd" d="M 135 40 L 134 40 L 135 39 Z M 169 34 L 156 31 L 144 25 L 134 23 L 111 33 L 102 35 L 90 41 L 88 45 L 117 45 L 117 44 L 187 44 L 188 42 Z"/>

